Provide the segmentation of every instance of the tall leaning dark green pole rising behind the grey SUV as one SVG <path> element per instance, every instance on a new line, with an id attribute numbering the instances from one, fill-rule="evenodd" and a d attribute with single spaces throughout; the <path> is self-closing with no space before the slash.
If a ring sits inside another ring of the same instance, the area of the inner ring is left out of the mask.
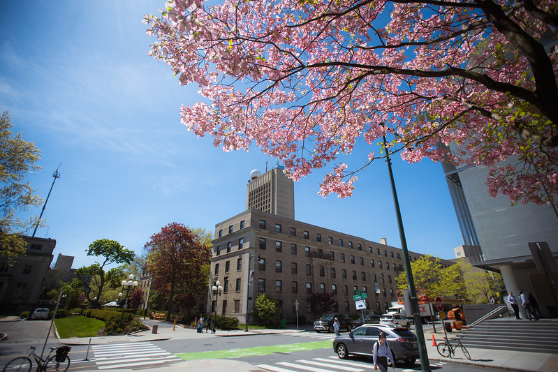
<path id="1" fill-rule="evenodd" d="M 420 356 L 420 365 L 423 372 L 430 372 L 430 363 L 428 361 L 428 352 L 426 350 L 425 334 L 423 332 L 423 322 L 420 319 L 420 311 L 418 310 L 415 281 L 413 280 L 413 272 L 411 271 L 411 260 L 409 260 L 409 251 L 407 250 L 407 241 L 405 239 L 405 231 L 403 230 L 403 220 L 401 218 L 401 210 L 399 209 L 399 200 L 397 198 L 397 191 L 395 190 L 395 181 L 393 180 L 393 172 L 391 170 L 390 153 L 388 152 L 385 135 L 383 136 L 383 147 L 386 149 L 386 163 L 388 163 L 388 171 L 390 173 L 391 191 L 393 194 L 393 203 L 395 204 L 395 214 L 397 215 L 399 239 L 401 239 L 401 248 L 403 251 L 403 263 L 405 266 L 407 285 L 409 285 L 411 311 L 413 312 L 413 320 L 415 322 L 415 332 L 418 341 L 418 355 Z"/>

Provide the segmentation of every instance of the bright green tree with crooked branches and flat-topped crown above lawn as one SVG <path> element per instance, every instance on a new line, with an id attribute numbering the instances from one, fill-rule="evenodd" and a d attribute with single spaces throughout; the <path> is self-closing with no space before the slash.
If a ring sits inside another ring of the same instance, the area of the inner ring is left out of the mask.
<path id="1" fill-rule="evenodd" d="M 80 267 L 75 271 L 74 288 L 83 288 L 85 297 L 93 307 L 98 307 L 99 300 L 103 296 L 106 285 L 117 288 L 124 278 L 122 266 L 105 272 L 105 267 L 112 264 L 129 264 L 135 257 L 135 253 L 124 248 L 118 241 L 110 239 L 98 239 L 89 245 L 87 255 L 104 258 L 102 263 L 95 262 L 88 267 Z M 97 300 L 94 300 L 97 297 Z"/>

